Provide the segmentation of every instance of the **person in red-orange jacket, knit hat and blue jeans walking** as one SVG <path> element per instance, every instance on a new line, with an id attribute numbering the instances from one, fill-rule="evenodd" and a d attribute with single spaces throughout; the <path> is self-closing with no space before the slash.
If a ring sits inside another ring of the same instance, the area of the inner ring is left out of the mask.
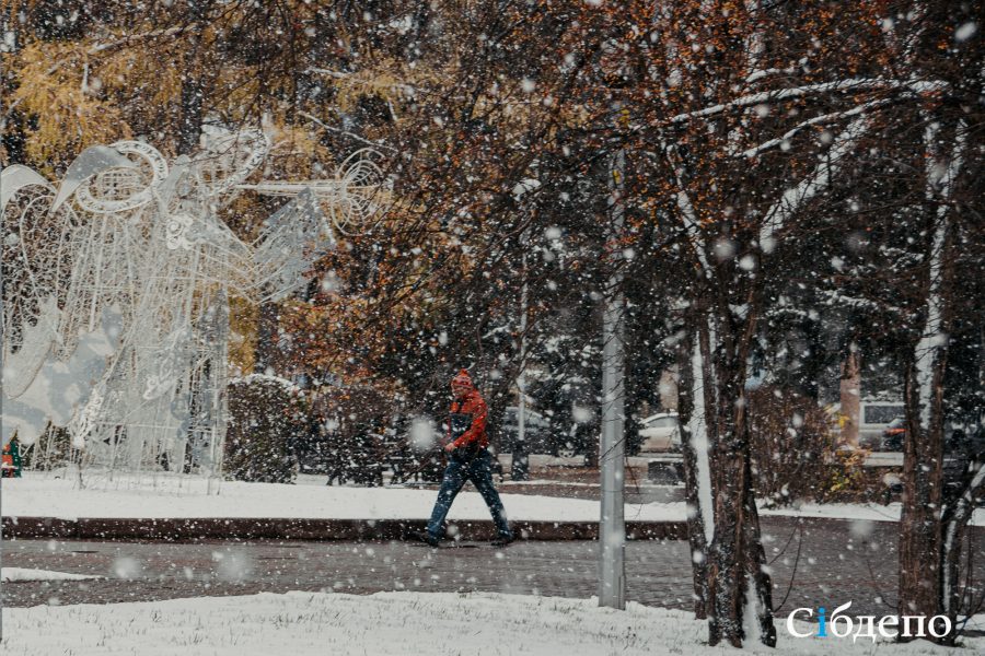
<path id="1" fill-rule="evenodd" d="M 493 546 L 505 547 L 513 541 L 513 534 L 510 531 L 499 494 L 493 487 L 493 456 L 486 448 L 489 445 L 489 438 L 486 436 L 486 401 L 472 384 L 472 378 L 465 370 L 460 371 L 452 379 L 451 387 L 454 400 L 449 414 L 448 444 L 444 445 L 448 467 L 444 469 L 428 529 L 426 532 L 415 531 L 414 536 L 432 547 L 438 546 L 438 540 L 444 532 L 448 511 L 462 485 L 468 480 L 482 494 L 493 515 L 497 531 Z"/>

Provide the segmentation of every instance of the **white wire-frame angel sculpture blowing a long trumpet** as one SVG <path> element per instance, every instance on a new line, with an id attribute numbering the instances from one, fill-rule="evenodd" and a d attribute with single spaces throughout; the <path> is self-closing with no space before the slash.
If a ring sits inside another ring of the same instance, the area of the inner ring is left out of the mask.
<path id="1" fill-rule="evenodd" d="M 263 131 L 202 141 L 171 163 L 139 141 L 92 147 L 57 188 L 24 166 L 0 172 L 3 444 L 55 425 L 106 480 L 221 476 L 229 295 L 305 285 L 335 234 L 370 226 L 385 180 L 366 149 L 334 179 L 247 184 L 270 151 Z M 218 214 L 245 190 L 292 197 L 253 243 Z"/>

